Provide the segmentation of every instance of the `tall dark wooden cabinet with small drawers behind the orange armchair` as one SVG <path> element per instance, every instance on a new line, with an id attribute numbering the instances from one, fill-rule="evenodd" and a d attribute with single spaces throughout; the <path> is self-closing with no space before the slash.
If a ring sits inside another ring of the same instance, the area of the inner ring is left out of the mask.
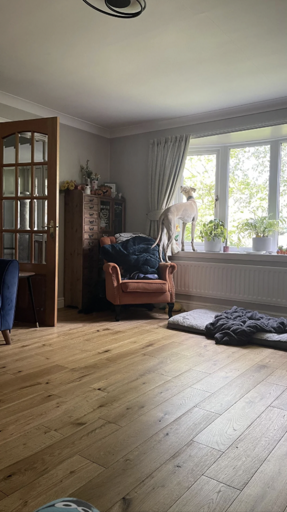
<path id="1" fill-rule="evenodd" d="M 99 276 L 99 239 L 125 230 L 125 200 L 65 191 L 64 304 L 93 300 Z M 101 267 L 103 262 L 100 262 Z"/>

